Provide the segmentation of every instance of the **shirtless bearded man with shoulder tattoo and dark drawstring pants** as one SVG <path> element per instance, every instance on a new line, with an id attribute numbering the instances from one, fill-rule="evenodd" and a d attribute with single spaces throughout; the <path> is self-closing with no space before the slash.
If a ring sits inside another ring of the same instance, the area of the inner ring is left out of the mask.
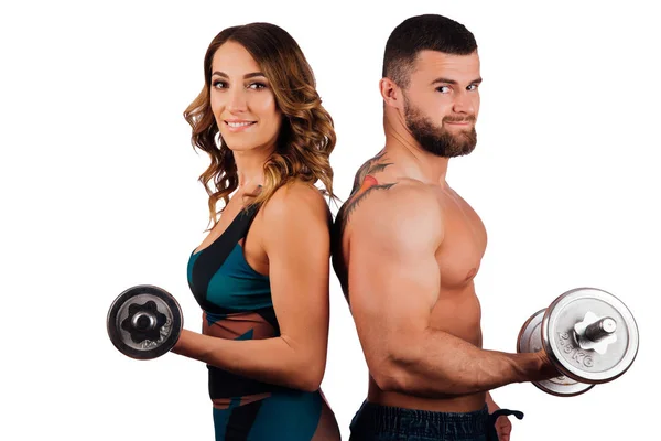
<path id="1" fill-rule="evenodd" d="M 333 266 L 370 373 L 353 440 L 486 440 L 490 389 L 559 375 L 542 352 L 481 349 L 473 280 L 487 235 L 445 181 L 449 158 L 476 146 L 480 82 L 475 37 L 453 20 L 413 17 L 388 40 L 386 147 L 358 171 L 334 227 Z M 496 426 L 509 440 L 507 417 Z"/>

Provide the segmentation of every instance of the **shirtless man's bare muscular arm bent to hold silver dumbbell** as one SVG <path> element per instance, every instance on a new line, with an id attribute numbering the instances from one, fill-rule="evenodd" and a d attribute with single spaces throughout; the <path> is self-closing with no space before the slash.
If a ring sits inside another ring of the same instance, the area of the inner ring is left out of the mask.
<path id="1" fill-rule="evenodd" d="M 430 327 L 441 288 L 436 196 L 414 184 L 371 192 L 350 218 L 348 292 L 366 361 L 382 390 L 473 394 L 550 378 L 542 353 L 484 351 Z"/>

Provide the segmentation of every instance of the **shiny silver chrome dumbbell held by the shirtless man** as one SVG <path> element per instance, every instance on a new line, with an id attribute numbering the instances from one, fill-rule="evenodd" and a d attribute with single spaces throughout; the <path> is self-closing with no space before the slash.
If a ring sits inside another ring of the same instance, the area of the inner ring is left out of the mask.
<path id="1" fill-rule="evenodd" d="M 523 323 L 517 352 L 540 349 L 563 375 L 533 385 L 548 394 L 572 397 L 627 372 L 638 354 L 638 325 L 631 311 L 611 293 L 577 288 Z"/>

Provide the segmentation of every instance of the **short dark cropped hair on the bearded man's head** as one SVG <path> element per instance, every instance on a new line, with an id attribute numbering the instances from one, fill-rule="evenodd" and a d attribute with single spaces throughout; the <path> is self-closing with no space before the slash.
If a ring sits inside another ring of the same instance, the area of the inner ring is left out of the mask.
<path id="1" fill-rule="evenodd" d="M 475 50 L 475 36 L 463 24 L 437 14 L 411 17 L 388 37 L 382 75 L 407 88 L 420 51 L 468 55 Z"/>

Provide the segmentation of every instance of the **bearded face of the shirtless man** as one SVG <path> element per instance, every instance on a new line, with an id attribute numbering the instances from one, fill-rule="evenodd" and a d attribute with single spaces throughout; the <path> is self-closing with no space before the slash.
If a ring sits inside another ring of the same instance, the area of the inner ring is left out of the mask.
<path id="1" fill-rule="evenodd" d="M 479 56 L 422 51 L 404 96 L 408 129 L 437 157 L 468 154 L 477 143 Z"/>

